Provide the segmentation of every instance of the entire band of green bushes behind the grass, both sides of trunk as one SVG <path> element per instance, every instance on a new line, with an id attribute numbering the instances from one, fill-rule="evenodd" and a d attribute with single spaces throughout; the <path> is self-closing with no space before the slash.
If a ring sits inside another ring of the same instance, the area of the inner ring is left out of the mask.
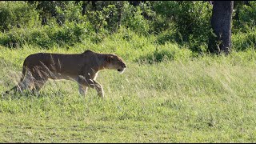
<path id="1" fill-rule="evenodd" d="M 29 44 L 50 48 L 55 45 L 74 46 L 86 41 L 98 44 L 108 35 L 117 34 L 127 42 L 146 36 L 158 45 L 177 42 L 193 54 L 208 52 L 208 39 L 214 36 L 210 30 L 212 6 L 209 2 L 130 3 L 133 2 L 1 2 L 0 45 L 17 47 Z M 254 47 L 255 42 L 255 2 L 249 2 L 249 5 L 236 3 L 233 46 L 234 50 L 246 50 L 248 46 Z M 127 31 L 140 36 L 134 37 Z M 154 38 L 150 38 L 151 35 Z M 132 47 L 137 50 L 142 46 L 144 44 L 137 42 Z M 148 52 L 154 53 L 154 50 Z"/>

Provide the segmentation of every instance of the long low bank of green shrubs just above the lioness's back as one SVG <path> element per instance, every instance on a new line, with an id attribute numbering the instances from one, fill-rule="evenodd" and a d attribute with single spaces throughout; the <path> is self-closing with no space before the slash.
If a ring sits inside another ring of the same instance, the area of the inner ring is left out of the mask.
<path id="1" fill-rule="evenodd" d="M 57 44 L 59 46 L 73 46 L 77 42 L 82 42 L 90 35 L 91 27 L 89 23 L 75 24 L 67 23 L 64 26 L 43 26 L 33 29 L 13 29 L 0 35 L 2 46 L 17 47 L 26 43 L 50 48 Z"/>

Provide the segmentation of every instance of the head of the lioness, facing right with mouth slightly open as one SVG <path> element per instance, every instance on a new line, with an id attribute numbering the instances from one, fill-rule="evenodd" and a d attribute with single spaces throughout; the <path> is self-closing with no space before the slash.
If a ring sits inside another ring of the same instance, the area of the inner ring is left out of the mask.
<path id="1" fill-rule="evenodd" d="M 108 69 L 118 70 L 121 74 L 126 69 L 126 63 L 122 61 L 122 58 L 119 58 L 114 54 L 106 55 L 106 66 Z"/>

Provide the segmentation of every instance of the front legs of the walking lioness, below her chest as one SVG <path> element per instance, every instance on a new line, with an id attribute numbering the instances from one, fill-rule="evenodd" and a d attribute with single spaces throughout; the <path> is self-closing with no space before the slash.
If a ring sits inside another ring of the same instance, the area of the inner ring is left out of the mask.
<path id="1" fill-rule="evenodd" d="M 97 90 L 98 96 L 100 96 L 101 98 L 104 98 L 104 90 L 102 88 L 102 85 L 96 82 L 95 80 L 79 76 L 78 83 L 79 83 L 80 94 L 81 93 L 84 94 L 84 91 L 86 93 L 87 86 L 88 86 L 90 88 Z"/>

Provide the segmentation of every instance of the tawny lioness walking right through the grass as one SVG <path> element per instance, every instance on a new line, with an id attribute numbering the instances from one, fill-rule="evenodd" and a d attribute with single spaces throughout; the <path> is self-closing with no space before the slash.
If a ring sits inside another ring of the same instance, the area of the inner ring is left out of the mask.
<path id="1" fill-rule="evenodd" d="M 80 94 L 86 95 L 87 88 L 91 87 L 103 98 L 102 86 L 95 79 L 98 71 L 104 69 L 122 73 L 126 64 L 115 54 L 99 54 L 91 50 L 82 54 L 30 54 L 23 63 L 21 81 L 11 90 L 32 90 L 34 93 L 41 90 L 48 78 L 68 79 L 78 82 Z M 11 90 L 6 91 L 6 94 Z"/>

